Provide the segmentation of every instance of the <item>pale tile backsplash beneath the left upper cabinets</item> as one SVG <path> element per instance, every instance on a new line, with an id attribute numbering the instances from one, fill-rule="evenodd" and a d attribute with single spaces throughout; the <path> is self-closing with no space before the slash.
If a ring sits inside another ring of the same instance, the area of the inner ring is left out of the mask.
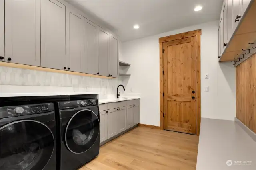
<path id="1" fill-rule="evenodd" d="M 0 66 L 0 85 L 72 87 L 73 92 L 99 92 L 100 98 L 116 94 L 121 78 L 76 76 Z"/>

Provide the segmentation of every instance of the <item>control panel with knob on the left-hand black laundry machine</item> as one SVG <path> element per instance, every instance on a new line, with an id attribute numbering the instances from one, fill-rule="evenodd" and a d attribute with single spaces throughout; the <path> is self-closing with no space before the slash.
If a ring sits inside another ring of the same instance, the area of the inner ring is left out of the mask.
<path id="1" fill-rule="evenodd" d="M 0 107 L 0 118 L 39 114 L 54 111 L 53 103 Z"/>

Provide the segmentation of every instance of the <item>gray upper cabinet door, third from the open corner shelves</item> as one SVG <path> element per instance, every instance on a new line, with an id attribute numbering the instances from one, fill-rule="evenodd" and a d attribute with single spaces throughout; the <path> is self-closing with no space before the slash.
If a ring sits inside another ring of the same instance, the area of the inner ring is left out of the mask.
<path id="1" fill-rule="evenodd" d="M 84 18 L 84 72 L 98 72 L 98 25 Z"/>

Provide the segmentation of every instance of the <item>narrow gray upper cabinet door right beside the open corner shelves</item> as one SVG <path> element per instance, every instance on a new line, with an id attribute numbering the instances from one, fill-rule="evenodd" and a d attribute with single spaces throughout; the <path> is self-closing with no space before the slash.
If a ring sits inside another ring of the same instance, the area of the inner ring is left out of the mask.
<path id="1" fill-rule="evenodd" d="M 118 40 L 110 35 L 110 76 L 118 78 Z"/>

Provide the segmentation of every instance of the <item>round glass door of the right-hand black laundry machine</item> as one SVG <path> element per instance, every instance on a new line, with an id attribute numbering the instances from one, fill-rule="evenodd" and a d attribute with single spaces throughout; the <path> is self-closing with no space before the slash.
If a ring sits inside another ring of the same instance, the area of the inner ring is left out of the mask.
<path id="1" fill-rule="evenodd" d="M 100 122 L 97 115 L 90 110 L 78 111 L 68 121 L 66 146 L 75 154 L 86 152 L 95 143 L 99 132 Z"/>

